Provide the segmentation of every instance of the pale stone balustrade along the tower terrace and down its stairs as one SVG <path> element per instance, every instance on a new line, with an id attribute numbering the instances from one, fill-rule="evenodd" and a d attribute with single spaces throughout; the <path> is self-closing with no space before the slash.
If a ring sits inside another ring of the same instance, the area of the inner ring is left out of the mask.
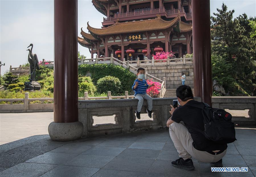
<path id="1" fill-rule="evenodd" d="M 166 61 L 165 63 L 168 64 L 168 62 L 171 61 L 171 60 L 172 59 L 168 59 L 167 61 L 165 60 Z M 183 60 L 183 59 L 181 58 L 181 59 L 175 59 L 175 60 L 178 61 L 178 60 Z M 147 62 L 148 60 L 143 60 L 143 61 Z M 153 63 L 154 63 L 155 60 L 153 59 L 153 60 L 150 60 L 150 61 L 153 61 Z M 160 60 L 156 60 L 156 62 L 157 61 L 160 61 Z M 113 54 L 111 54 L 110 57 L 105 57 L 105 58 L 98 58 L 98 56 L 96 55 L 96 58 L 93 58 L 93 59 L 79 59 L 78 62 L 81 63 L 81 64 L 102 64 L 102 63 L 115 64 L 115 65 L 119 65 L 119 66 L 122 66 L 122 67 L 128 69 L 130 72 L 132 72 L 134 74 L 137 74 L 137 70 L 138 70 L 138 68 L 135 68 L 134 66 L 132 66 L 132 64 L 130 64 L 130 61 L 124 62 L 124 61 L 118 60 L 118 59 L 113 57 Z M 138 60 L 138 62 L 140 62 L 140 60 Z M 184 61 L 182 61 L 182 62 L 184 63 Z M 159 62 L 159 63 L 164 63 L 164 61 Z M 152 80 L 152 81 L 155 81 L 155 82 L 159 82 L 161 84 L 160 97 L 162 98 L 165 91 L 166 91 L 165 77 L 163 77 L 163 80 L 161 80 L 159 78 L 156 78 L 156 77 L 148 74 L 147 69 L 145 69 L 145 76 L 146 76 L 146 79 L 149 79 L 149 80 Z"/>

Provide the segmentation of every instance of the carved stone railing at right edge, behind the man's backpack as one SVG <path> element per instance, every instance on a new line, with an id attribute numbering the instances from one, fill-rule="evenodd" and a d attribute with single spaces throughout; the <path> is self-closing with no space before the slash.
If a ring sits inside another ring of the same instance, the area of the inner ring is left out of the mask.
<path id="1" fill-rule="evenodd" d="M 233 115 L 232 121 L 242 126 L 256 125 L 256 97 L 212 97 L 212 107 L 228 110 L 249 110 L 247 117 Z"/>

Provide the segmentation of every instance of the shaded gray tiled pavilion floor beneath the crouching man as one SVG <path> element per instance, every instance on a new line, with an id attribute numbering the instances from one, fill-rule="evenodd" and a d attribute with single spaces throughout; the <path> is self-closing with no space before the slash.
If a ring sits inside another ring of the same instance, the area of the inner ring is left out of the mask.
<path id="1" fill-rule="evenodd" d="M 248 172 L 211 172 L 209 163 L 193 159 L 195 169 L 171 166 L 178 153 L 168 130 L 119 134 L 77 141 L 52 141 L 37 135 L 0 146 L 0 176 L 255 176 L 256 129 L 236 128 L 237 141 L 228 144 L 224 167 L 248 167 Z"/>

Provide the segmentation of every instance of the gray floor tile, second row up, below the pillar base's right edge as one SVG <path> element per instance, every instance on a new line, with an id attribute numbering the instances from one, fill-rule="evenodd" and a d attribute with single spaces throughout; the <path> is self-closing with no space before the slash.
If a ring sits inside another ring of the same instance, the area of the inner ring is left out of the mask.
<path id="1" fill-rule="evenodd" d="M 64 165 L 102 168 L 112 159 L 114 159 L 114 157 L 80 154 L 70 161 L 67 161 Z"/>

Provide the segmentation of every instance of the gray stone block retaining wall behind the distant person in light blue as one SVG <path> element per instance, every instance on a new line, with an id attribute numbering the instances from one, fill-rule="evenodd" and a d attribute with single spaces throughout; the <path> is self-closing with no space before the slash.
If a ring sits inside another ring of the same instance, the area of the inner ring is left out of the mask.
<path id="1" fill-rule="evenodd" d="M 148 69 L 148 74 L 163 80 L 166 78 L 166 88 L 176 89 L 181 85 L 182 72 L 189 72 L 189 76 L 186 76 L 185 84 L 194 88 L 194 71 L 193 64 L 185 65 L 169 65 L 169 66 L 145 66 Z"/>

